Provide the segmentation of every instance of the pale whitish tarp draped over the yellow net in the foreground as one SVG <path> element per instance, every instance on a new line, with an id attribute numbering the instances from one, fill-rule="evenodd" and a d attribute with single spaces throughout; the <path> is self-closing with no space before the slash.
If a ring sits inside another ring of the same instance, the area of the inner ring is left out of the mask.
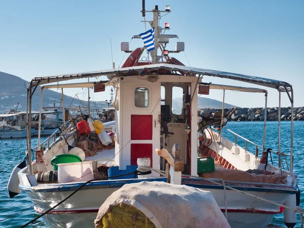
<path id="1" fill-rule="evenodd" d="M 101 205 L 95 225 L 109 206 L 120 203 L 133 205 L 159 228 L 230 227 L 211 192 L 161 181 L 125 184 Z"/>

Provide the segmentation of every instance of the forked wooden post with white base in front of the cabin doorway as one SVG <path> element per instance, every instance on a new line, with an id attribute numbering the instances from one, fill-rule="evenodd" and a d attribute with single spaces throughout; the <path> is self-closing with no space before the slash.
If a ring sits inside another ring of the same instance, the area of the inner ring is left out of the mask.
<path id="1" fill-rule="evenodd" d="M 166 175 L 168 183 L 181 184 L 181 172 L 184 164 L 180 158 L 180 149 L 177 143 L 173 145 L 172 153 L 167 149 L 156 149 L 156 153 L 168 161 Z"/>

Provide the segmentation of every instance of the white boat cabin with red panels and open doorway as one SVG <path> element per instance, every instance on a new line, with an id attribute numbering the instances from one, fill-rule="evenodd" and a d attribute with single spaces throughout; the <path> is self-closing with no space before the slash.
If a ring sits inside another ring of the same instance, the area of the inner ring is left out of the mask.
<path id="1" fill-rule="evenodd" d="M 120 169 L 150 158 L 164 169 L 157 148 L 178 143 L 188 174 L 197 173 L 197 77 L 164 74 L 112 79 L 116 88 L 115 161 Z M 193 159 L 192 159 L 193 158 Z"/>

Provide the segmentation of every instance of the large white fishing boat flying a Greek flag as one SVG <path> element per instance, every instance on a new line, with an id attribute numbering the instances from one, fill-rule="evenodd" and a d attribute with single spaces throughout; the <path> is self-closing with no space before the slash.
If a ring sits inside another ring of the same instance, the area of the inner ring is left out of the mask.
<path id="1" fill-rule="evenodd" d="M 56 88 L 62 89 L 95 88 L 97 85 L 114 87 L 116 97 L 112 106 L 116 109 L 115 125 L 104 123 L 107 135 L 113 135 L 112 142 L 96 149 L 94 155 L 85 154 L 81 162 L 63 173 L 60 169 L 67 170 L 73 163 L 59 164 L 54 162 L 54 158 L 72 154 L 70 151 L 75 150 L 75 155 L 80 156 L 82 152 L 74 147 L 79 147 L 80 139 L 84 139 L 86 145 L 91 145 L 94 137 L 86 137 L 86 133 L 92 125 L 89 123 L 85 130 L 80 129 L 80 123 L 90 122 L 90 117 L 82 115 L 69 120 L 58 130 L 58 138 L 51 135 L 41 142 L 39 133 L 37 145 L 32 144 L 29 132 L 31 120 L 28 118 L 27 166 L 17 174 L 12 173 L 13 176 L 18 175 L 20 189 L 10 187 L 10 191 L 16 194 L 25 191 L 34 204 L 34 210 L 45 214 L 43 219 L 48 227 L 94 227 L 98 209 L 107 197 L 124 184 L 141 181 L 169 181 L 210 191 L 231 227 L 266 227 L 276 214 L 282 213 L 283 207 L 285 223 L 287 227 L 293 227 L 296 213 L 286 209 L 286 205 L 290 208 L 298 206 L 296 202 L 299 200 L 296 198 L 299 193 L 297 175 L 293 173 L 293 119 L 290 150 L 281 150 L 279 134 L 279 147 L 275 151 L 268 149 L 265 144 L 267 118 L 264 118 L 261 133 L 263 144 L 258 145 L 225 127 L 233 109 L 224 112 L 222 108 L 222 111 L 210 113 L 210 116 L 201 117 L 198 114 L 198 93 L 209 94 L 210 89 L 221 89 L 223 94 L 226 90 L 264 93 L 267 110 L 266 89 L 206 83 L 213 77 L 277 90 L 280 98 L 282 93 L 286 93 L 290 98 L 291 109 L 292 86 L 273 79 L 185 66 L 169 56 L 170 53 L 184 51 L 184 44 L 177 42 L 174 51 L 166 50 L 169 40 L 177 35 L 164 34 L 163 31 L 169 29 L 169 25 L 166 24 L 165 28 L 159 26 L 159 15 L 171 12 L 170 7 L 166 6 L 166 10 L 161 11 L 156 6 L 152 11 L 145 11 L 143 6 L 141 12 L 143 16 L 146 12 L 153 14 L 153 20 L 149 22 L 151 29 L 133 36 L 143 39 L 143 48 L 130 51 L 129 44 L 122 43 L 122 51 L 131 53 L 123 67 L 34 78 L 27 90 L 27 117 L 30 117 L 31 97 L 38 86 L 47 88 L 49 84 L 56 83 Z M 149 51 L 149 58 L 140 61 L 145 51 Z M 101 75 L 106 75 L 108 81 L 64 83 L 74 79 L 93 80 Z M 172 99 L 172 94 L 182 99 L 176 101 Z M 278 128 L 280 130 L 280 120 Z M 224 137 L 224 131 L 234 134 L 235 140 Z M 245 140 L 245 146 L 240 145 L 240 140 Z M 100 143 L 102 139 L 97 141 Z M 249 145 L 255 149 L 252 151 Z M 32 149 L 35 153 L 33 162 Z M 269 155 L 274 159 L 276 156 L 278 167 L 269 164 Z M 141 164 L 142 158 L 149 161 L 148 164 Z M 211 161 L 208 165 L 212 165 L 212 161 L 216 163 L 215 170 L 204 171 L 206 160 Z M 283 161 L 289 163 L 286 170 L 282 166 Z M 176 162 L 178 167 L 174 166 Z M 58 171 L 55 171 L 55 166 L 58 166 Z M 148 176 L 122 176 L 142 167 L 151 173 Z M 100 170 L 107 170 L 102 173 L 108 179 L 97 177 L 94 180 L 94 175 Z M 78 172 L 80 176 L 77 176 Z M 61 181 L 58 180 L 60 178 Z M 11 176 L 11 179 L 15 182 L 9 184 L 16 185 L 16 178 Z"/>

